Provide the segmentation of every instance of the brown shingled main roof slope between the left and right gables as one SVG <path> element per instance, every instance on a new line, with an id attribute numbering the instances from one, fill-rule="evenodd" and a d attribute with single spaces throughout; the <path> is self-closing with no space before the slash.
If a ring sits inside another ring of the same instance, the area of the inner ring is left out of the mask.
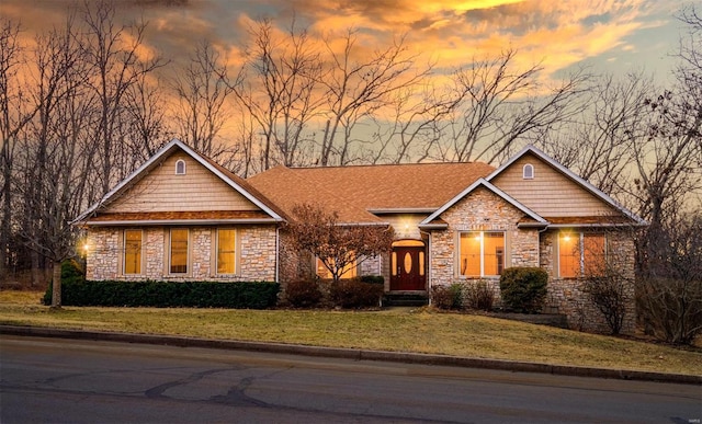
<path id="1" fill-rule="evenodd" d="M 296 204 L 336 210 L 339 221 L 383 224 L 383 214 L 430 214 L 456 193 L 495 170 L 482 162 L 276 167 L 247 181 L 285 214 Z"/>

